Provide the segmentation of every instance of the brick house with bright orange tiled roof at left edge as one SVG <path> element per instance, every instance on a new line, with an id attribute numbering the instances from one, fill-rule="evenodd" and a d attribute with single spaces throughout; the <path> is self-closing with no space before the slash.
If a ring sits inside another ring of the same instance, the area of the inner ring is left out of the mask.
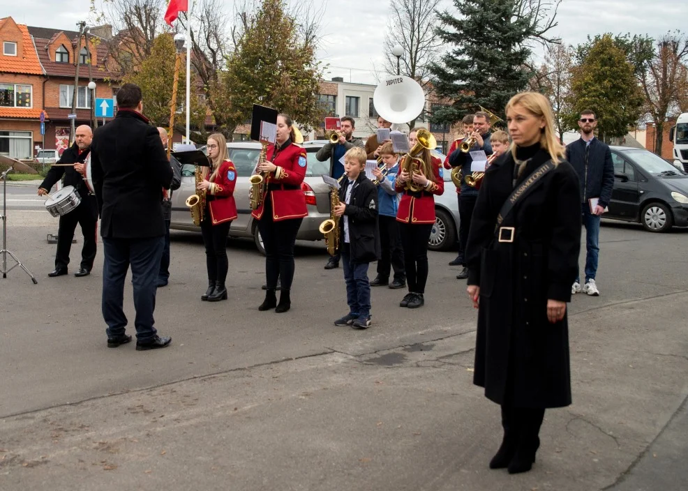
<path id="1" fill-rule="evenodd" d="M 45 70 L 29 30 L 12 17 L 0 19 L 0 155 L 33 157 L 40 142 Z"/>

